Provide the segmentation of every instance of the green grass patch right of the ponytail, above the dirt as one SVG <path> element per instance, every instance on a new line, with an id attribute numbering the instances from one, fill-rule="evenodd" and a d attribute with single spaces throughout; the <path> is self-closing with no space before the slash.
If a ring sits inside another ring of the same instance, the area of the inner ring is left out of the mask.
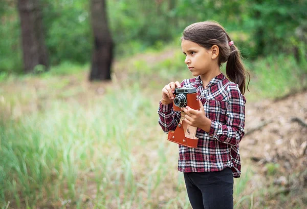
<path id="1" fill-rule="evenodd" d="M 279 98 L 307 87 L 307 64 L 291 55 L 280 54 L 246 62 L 251 72 L 251 99 Z"/>

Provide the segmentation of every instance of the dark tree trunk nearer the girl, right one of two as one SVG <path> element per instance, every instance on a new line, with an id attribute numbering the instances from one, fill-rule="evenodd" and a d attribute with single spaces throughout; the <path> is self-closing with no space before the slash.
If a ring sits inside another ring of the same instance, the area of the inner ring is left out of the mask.
<path id="1" fill-rule="evenodd" d="M 111 80 L 113 40 L 108 29 L 105 0 L 91 1 L 94 49 L 90 80 Z"/>

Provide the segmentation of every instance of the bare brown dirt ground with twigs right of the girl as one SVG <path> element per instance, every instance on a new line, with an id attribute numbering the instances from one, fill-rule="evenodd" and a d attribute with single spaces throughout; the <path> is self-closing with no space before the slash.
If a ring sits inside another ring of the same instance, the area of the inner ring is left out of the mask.
<path id="1" fill-rule="evenodd" d="M 275 208 L 290 208 L 293 202 L 306 205 L 306 149 L 307 91 L 278 101 L 247 103 L 246 135 L 240 142 L 240 153 L 254 172 L 254 190 L 275 186 L 265 200 L 275 201 L 271 203 L 278 205 Z M 280 205 L 280 194 L 289 198 L 286 205 Z"/>

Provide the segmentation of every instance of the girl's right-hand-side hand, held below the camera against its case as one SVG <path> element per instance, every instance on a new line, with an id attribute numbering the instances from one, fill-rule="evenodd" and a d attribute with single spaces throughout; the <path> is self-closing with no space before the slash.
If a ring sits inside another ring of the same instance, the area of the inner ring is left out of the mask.
<path id="1" fill-rule="evenodd" d="M 200 110 L 194 110 L 188 106 L 185 108 L 181 108 L 185 115 L 185 122 L 192 127 L 200 128 L 206 132 L 210 131 L 211 128 L 211 120 L 206 117 L 204 106 L 202 102 L 200 102 Z"/>

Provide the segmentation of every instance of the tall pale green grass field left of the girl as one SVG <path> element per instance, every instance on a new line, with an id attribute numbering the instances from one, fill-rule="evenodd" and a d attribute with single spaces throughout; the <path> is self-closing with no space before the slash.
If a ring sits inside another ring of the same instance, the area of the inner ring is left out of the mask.
<path id="1" fill-rule="evenodd" d="M 2 207 L 189 208 L 157 103 L 139 85 L 85 103 L 1 120 Z"/>

